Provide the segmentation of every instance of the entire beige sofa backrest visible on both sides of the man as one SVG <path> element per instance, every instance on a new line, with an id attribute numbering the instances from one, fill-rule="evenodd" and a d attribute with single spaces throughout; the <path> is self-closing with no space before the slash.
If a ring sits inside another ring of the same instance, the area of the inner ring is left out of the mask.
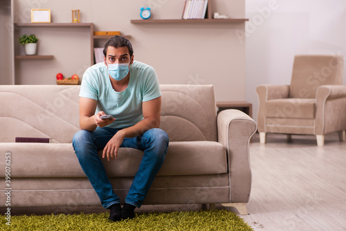
<path id="1" fill-rule="evenodd" d="M 0 85 L 0 142 L 15 137 L 72 142 L 79 124 L 80 86 Z M 170 141 L 217 140 L 212 86 L 161 85 L 161 128 Z"/>

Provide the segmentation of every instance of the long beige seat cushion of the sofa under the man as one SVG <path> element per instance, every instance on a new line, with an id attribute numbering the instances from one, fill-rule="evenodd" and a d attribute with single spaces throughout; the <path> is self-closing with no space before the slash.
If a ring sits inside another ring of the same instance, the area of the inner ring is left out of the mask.
<path id="1" fill-rule="evenodd" d="M 0 151 L 11 152 L 12 178 L 86 177 L 71 143 L 0 143 Z M 54 156 L 54 158 L 52 158 Z M 102 151 L 99 151 L 102 156 Z M 143 151 L 120 148 L 116 160 L 102 159 L 109 177 L 134 176 Z M 5 163 L 0 162 L 5 169 Z M 226 149 L 218 142 L 170 142 L 158 176 L 224 174 Z M 5 172 L 0 172 L 4 177 Z"/>

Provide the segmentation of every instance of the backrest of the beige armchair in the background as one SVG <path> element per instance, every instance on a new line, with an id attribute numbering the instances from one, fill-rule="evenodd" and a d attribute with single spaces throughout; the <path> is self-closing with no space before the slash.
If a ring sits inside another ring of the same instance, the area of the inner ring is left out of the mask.
<path id="1" fill-rule="evenodd" d="M 343 56 L 295 55 L 289 98 L 316 98 L 321 85 L 343 84 Z"/>

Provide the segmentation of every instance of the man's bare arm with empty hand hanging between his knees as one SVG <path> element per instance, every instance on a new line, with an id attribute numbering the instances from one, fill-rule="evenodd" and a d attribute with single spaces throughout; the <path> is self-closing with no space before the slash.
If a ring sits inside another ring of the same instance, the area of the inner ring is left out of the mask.
<path id="1" fill-rule="evenodd" d="M 134 126 L 118 131 L 113 138 L 109 140 L 106 147 L 104 147 L 102 158 L 105 158 L 106 156 L 107 160 L 114 160 L 114 158 L 117 158 L 118 149 L 125 137 L 131 138 L 140 136 L 149 129 L 160 127 L 161 96 L 154 100 L 143 102 L 142 111 L 144 119 L 134 124 Z"/>

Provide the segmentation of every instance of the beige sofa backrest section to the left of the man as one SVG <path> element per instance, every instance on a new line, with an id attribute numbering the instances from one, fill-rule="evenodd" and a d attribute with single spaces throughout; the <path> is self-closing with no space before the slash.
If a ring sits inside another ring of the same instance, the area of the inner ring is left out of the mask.
<path id="1" fill-rule="evenodd" d="M 0 142 L 15 137 L 72 142 L 80 130 L 80 86 L 1 85 Z"/>

